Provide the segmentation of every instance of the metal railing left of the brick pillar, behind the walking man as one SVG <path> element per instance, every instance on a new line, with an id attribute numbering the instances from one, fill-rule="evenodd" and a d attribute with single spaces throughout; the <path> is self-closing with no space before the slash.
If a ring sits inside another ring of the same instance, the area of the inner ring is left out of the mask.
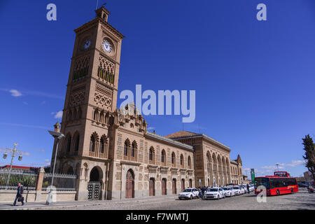
<path id="1" fill-rule="evenodd" d="M 8 170 L 0 170 L 0 190 L 17 190 L 18 183 L 21 183 L 25 190 L 35 190 L 37 172 L 11 171 L 7 186 L 8 174 Z"/>

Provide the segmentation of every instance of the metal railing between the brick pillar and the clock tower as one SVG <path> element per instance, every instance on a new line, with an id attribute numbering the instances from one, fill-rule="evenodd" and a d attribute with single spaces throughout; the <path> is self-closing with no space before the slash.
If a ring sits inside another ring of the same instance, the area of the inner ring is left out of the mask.
<path id="1" fill-rule="evenodd" d="M 42 190 L 48 190 L 51 185 L 52 174 L 45 173 L 43 176 Z M 54 183 L 56 190 L 76 190 L 76 175 L 54 174 Z"/>

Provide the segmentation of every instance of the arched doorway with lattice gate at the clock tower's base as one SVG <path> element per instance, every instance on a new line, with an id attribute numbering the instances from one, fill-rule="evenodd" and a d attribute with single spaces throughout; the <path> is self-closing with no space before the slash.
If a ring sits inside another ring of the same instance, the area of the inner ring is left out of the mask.
<path id="1" fill-rule="evenodd" d="M 99 200 L 102 195 L 103 173 L 100 167 L 94 167 L 90 172 L 90 181 L 87 184 L 88 200 Z"/>

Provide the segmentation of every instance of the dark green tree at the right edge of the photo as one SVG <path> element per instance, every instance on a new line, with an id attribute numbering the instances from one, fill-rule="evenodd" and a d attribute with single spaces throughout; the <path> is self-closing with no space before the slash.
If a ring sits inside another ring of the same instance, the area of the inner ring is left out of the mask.
<path id="1" fill-rule="evenodd" d="M 309 172 L 311 172 L 311 175 L 313 176 L 313 179 L 315 180 L 315 149 L 314 149 L 314 141 L 309 137 L 309 134 L 305 135 L 305 138 L 303 140 L 304 145 L 304 155 L 303 158 L 306 160 L 307 169 L 309 169 Z"/>

